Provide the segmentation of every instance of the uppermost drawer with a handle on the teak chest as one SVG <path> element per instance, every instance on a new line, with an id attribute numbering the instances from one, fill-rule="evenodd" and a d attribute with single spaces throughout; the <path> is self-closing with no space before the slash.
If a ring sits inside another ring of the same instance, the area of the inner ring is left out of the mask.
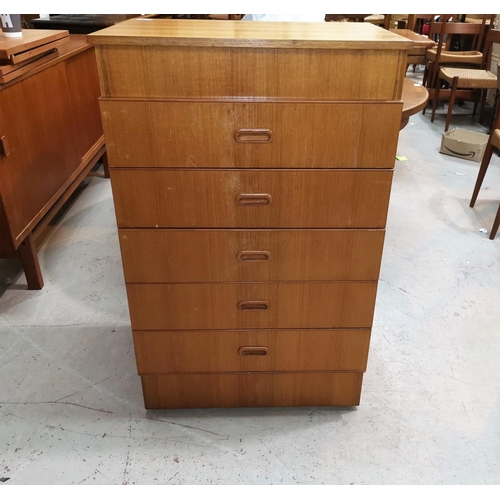
<path id="1" fill-rule="evenodd" d="M 101 100 L 111 167 L 392 168 L 402 104 Z"/>

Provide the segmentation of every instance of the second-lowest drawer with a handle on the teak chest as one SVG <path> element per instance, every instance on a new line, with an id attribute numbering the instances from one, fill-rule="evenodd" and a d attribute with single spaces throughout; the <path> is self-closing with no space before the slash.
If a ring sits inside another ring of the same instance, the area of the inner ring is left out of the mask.
<path id="1" fill-rule="evenodd" d="M 376 282 L 129 284 L 133 330 L 370 328 Z"/>

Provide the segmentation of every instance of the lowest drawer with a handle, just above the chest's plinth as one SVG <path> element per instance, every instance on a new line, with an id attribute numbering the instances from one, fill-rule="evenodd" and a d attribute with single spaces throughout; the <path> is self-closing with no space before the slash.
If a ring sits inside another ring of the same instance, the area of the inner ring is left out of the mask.
<path id="1" fill-rule="evenodd" d="M 365 371 L 370 330 L 134 332 L 140 375 Z"/>

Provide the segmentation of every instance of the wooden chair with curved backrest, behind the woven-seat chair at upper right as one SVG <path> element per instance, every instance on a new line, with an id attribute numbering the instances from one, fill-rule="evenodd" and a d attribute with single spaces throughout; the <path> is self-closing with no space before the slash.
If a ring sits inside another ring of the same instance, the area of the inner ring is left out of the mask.
<path id="1" fill-rule="evenodd" d="M 437 46 L 428 49 L 425 57 L 427 60 L 424 82 L 427 88 L 434 88 L 436 76 L 442 64 L 450 66 L 467 65 L 479 67 L 483 63 L 483 54 L 477 48 L 484 35 L 485 23 L 469 24 L 457 22 L 431 22 L 429 38 L 437 36 Z M 449 50 L 453 35 L 473 36 L 472 50 Z"/>

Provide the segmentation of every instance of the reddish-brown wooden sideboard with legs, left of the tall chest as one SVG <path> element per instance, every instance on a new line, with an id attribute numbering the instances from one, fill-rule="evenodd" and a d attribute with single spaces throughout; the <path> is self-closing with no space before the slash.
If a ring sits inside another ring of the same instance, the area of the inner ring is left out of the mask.
<path id="1" fill-rule="evenodd" d="M 43 287 L 36 236 L 105 155 L 98 98 L 84 35 L 0 85 L 0 258 L 21 258 L 29 289 Z"/>

